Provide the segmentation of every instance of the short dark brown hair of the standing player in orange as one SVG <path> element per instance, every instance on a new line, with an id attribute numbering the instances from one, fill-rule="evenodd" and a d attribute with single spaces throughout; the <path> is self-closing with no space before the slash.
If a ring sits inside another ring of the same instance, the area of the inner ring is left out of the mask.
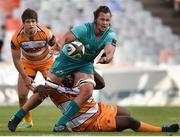
<path id="1" fill-rule="evenodd" d="M 38 15 L 37 12 L 33 9 L 27 8 L 22 16 L 21 16 L 22 22 L 24 23 L 26 19 L 35 19 L 38 22 Z"/>

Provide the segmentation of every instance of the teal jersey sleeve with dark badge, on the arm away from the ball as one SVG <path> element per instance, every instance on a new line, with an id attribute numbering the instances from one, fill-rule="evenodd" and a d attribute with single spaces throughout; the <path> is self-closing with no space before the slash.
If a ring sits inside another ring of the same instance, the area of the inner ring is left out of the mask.
<path id="1" fill-rule="evenodd" d="M 108 37 L 106 38 L 105 45 L 112 45 L 116 47 L 117 37 L 114 32 L 109 33 Z"/>

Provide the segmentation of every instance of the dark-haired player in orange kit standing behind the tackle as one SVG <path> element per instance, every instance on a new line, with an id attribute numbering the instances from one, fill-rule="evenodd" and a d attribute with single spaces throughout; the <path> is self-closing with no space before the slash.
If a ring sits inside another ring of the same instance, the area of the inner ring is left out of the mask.
<path id="1" fill-rule="evenodd" d="M 38 24 L 38 15 L 32 9 L 26 9 L 22 16 L 22 26 L 16 30 L 11 39 L 11 52 L 14 65 L 19 72 L 18 97 L 20 107 L 27 101 L 29 90 L 39 71 L 46 79 L 48 70 L 53 63 L 50 47 L 56 47 L 52 32 Z M 22 128 L 32 127 L 31 113 L 25 116 Z"/>

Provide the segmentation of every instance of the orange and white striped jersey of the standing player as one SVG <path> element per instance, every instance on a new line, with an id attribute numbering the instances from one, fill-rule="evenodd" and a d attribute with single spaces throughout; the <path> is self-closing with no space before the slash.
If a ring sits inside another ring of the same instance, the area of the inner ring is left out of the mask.
<path id="1" fill-rule="evenodd" d="M 22 49 L 22 57 L 32 62 L 42 62 L 52 56 L 50 46 L 55 44 L 55 37 L 49 29 L 38 24 L 34 35 L 29 37 L 23 26 L 18 29 L 11 40 L 11 48 L 14 50 Z"/>

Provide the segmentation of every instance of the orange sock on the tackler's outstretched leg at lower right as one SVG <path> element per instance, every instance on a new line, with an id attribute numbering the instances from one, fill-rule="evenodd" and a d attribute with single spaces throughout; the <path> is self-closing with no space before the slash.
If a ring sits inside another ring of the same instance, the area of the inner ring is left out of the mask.
<path id="1" fill-rule="evenodd" d="M 153 126 L 144 122 L 140 122 L 140 127 L 136 130 L 138 132 L 162 132 L 162 128 Z"/>

